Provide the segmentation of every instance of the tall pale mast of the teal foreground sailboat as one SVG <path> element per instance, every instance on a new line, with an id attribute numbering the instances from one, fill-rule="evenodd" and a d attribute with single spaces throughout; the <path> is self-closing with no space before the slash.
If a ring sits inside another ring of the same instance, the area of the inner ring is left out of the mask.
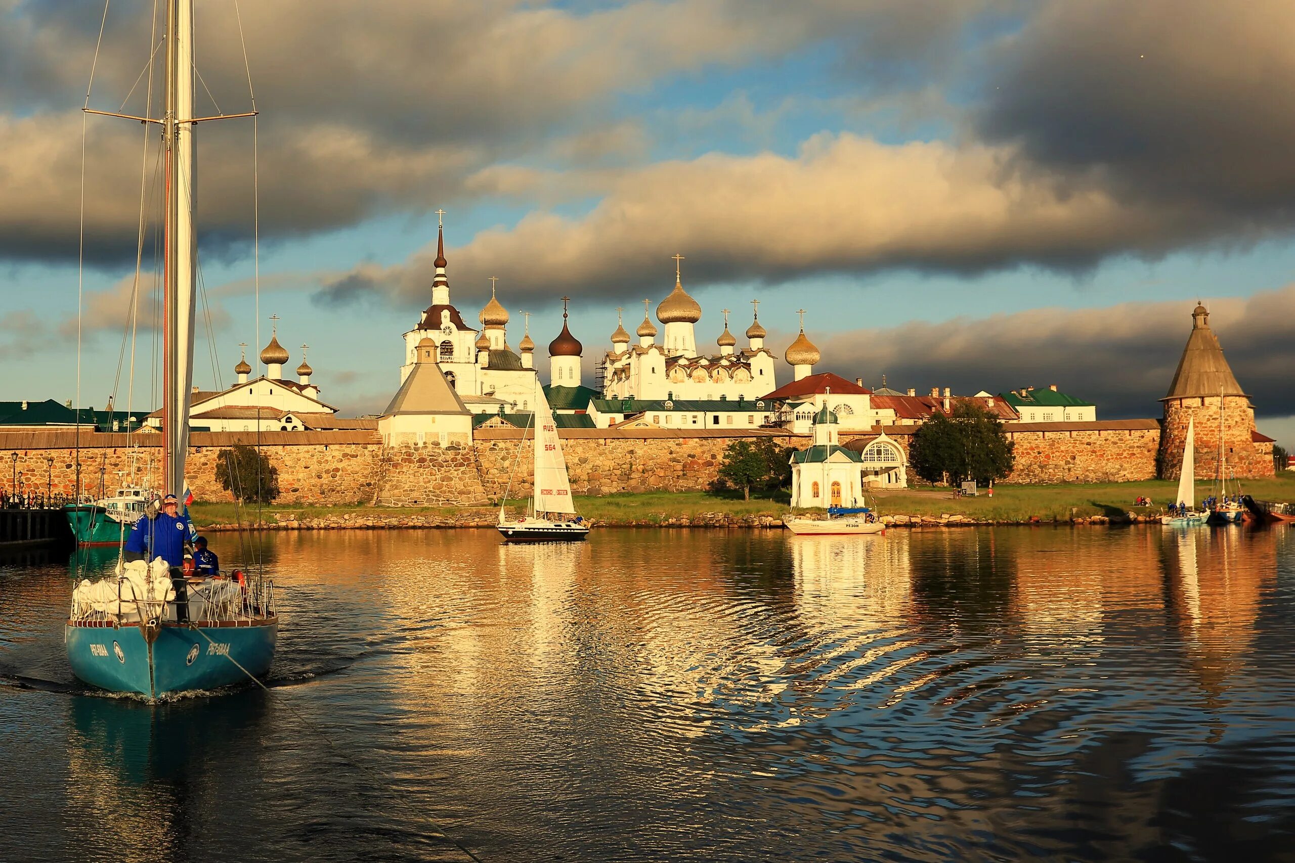
<path id="1" fill-rule="evenodd" d="M 193 386 L 193 0 L 168 0 L 166 25 L 166 282 L 163 292 L 163 490 L 183 497 Z"/>

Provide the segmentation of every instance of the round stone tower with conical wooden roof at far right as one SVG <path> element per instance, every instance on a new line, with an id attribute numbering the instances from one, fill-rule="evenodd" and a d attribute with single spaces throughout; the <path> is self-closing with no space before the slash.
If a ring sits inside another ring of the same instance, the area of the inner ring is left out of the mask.
<path id="1" fill-rule="evenodd" d="M 1255 409 L 1222 356 L 1219 336 L 1210 329 L 1210 312 L 1191 312 L 1191 335 L 1182 351 L 1173 383 L 1164 399 L 1160 431 L 1160 476 L 1182 472 L 1182 445 L 1188 423 L 1195 421 L 1197 479 L 1213 479 L 1219 448 L 1224 448 L 1229 476 L 1272 476 L 1270 450 L 1256 440 Z"/>

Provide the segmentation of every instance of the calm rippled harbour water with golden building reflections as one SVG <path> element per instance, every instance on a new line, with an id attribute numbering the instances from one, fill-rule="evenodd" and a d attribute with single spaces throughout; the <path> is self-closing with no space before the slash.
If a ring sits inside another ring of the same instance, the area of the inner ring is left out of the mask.
<path id="1" fill-rule="evenodd" d="M 158 706 L 0 564 L 0 858 L 1291 860 L 1292 537 L 285 533 L 272 690 Z"/>

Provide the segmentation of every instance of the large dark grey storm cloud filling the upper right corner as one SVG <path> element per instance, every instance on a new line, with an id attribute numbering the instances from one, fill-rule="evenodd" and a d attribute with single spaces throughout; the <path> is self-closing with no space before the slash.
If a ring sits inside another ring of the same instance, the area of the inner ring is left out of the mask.
<path id="1" fill-rule="evenodd" d="M 1123 201 L 1207 216 L 1219 235 L 1289 224 L 1295 4 L 1048 3 L 989 61 L 979 129 Z"/>

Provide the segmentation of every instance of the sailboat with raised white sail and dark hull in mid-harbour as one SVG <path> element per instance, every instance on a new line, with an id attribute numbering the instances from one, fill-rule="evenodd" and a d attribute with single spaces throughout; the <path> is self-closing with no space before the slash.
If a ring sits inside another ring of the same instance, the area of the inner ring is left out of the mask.
<path id="1" fill-rule="evenodd" d="M 534 496 L 524 516 L 510 519 L 504 503 L 499 507 L 499 532 L 506 542 L 543 540 L 579 541 L 589 536 L 589 525 L 576 515 L 571 499 L 571 480 L 562 458 L 562 441 L 553 410 L 539 380 L 535 383 L 535 476 Z M 518 454 L 526 446 L 526 433 Z M 508 494 L 504 494 L 508 499 Z M 569 516 L 569 518 L 566 518 Z"/>

